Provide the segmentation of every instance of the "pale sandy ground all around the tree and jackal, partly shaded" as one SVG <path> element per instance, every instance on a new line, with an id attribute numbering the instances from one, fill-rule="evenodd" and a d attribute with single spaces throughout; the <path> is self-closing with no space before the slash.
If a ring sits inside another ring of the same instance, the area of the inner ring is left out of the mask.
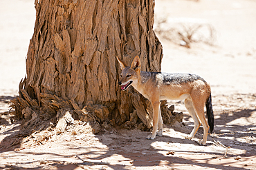
<path id="1" fill-rule="evenodd" d="M 198 144 L 202 127 L 193 140 L 184 138 L 194 123 L 180 101 L 172 104 L 185 114 L 183 123 L 165 125 L 156 140 L 137 129 L 94 135 L 80 122 L 63 134 L 48 127 L 8 138 L 20 126 L 6 111 L 26 74 L 33 6 L 31 0 L 0 1 L 0 169 L 256 169 L 256 1 L 156 0 L 156 23 L 165 19 L 166 30 L 201 24 L 216 31 L 213 45 L 199 41 L 190 49 L 159 34 L 162 71 L 199 74 L 212 87 L 215 127 L 206 146 Z M 196 34 L 206 36 L 205 30 Z"/>

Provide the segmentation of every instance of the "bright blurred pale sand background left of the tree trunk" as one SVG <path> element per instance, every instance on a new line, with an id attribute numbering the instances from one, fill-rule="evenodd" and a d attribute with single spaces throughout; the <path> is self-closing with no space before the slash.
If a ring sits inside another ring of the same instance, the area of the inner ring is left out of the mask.
<path id="1" fill-rule="evenodd" d="M 0 96 L 18 95 L 34 24 L 34 1 L 0 1 Z"/>

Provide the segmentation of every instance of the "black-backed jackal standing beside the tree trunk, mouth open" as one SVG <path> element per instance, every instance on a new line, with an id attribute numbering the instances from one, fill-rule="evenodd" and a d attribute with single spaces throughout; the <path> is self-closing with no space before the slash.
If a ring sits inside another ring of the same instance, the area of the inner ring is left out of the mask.
<path id="1" fill-rule="evenodd" d="M 145 98 L 149 99 L 153 107 L 153 131 L 147 139 L 156 138 L 156 135 L 162 136 L 163 120 L 161 116 L 161 100 L 185 100 L 185 107 L 194 120 L 194 129 L 186 137 L 194 138 L 196 131 L 201 123 L 203 124 L 203 141 L 201 145 L 206 144 L 208 130 L 213 130 L 214 118 L 212 111 L 212 97 L 210 85 L 203 78 L 194 74 L 167 74 L 161 72 L 143 72 L 140 71 L 140 59 L 138 56 L 129 67 L 124 61 L 118 59 L 122 70 L 121 79 L 118 85 L 122 90 L 126 90 L 130 85 L 134 87 Z M 204 105 L 208 123 L 204 116 Z M 156 133 L 158 129 L 158 133 Z"/>

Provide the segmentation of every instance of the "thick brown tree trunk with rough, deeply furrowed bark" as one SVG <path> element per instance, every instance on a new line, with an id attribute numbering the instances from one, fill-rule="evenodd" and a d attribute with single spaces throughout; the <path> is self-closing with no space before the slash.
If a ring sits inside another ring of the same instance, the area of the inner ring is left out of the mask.
<path id="1" fill-rule="evenodd" d="M 138 123 L 137 114 L 151 127 L 149 101 L 132 87 L 120 92 L 116 56 L 131 63 L 139 55 L 143 71 L 161 71 L 154 0 L 42 0 L 35 8 L 16 117 L 28 118 L 27 107 L 44 120 L 68 109 L 80 120 L 122 125 Z"/>

